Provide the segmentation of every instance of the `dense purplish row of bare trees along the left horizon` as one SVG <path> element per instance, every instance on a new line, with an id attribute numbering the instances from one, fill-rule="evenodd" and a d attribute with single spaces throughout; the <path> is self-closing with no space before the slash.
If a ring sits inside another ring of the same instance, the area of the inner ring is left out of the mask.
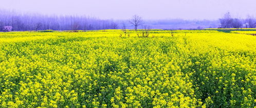
<path id="1" fill-rule="evenodd" d="M 57 16 L 31 13 L 17 13 L 0 10 L 0 31 L 39 31 L 39 30 L 104 30 L 118 29 L 114 20 L 101 20 L 89 16 Z"/>

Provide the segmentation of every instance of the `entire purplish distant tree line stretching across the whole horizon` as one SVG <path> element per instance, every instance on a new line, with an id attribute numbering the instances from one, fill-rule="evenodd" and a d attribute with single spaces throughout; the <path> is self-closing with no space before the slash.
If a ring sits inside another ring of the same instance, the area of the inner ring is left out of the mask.
<path id="1" fill-rule="evenodd" d="M 230 13 L 226 13 L 218 21 L 213 20 L 147 20 L 134 15 L 129 20 L 102 20 L 89 16 L 74 15 L 43 15 L 34 13 L 18 13 L 15 11 L 0 10 L 0 32 L 9 31 L 78 31 L 78 30 L 106 30 L 106 29 L 143 29 L 144 26 L 151 26 L 152 29 L 188 29 L 198 26 L 197 29 L 204 28 L 256 28 L 256 19 L 248 16 L 246 19 L 232 18 Z M 172 26 L 170 28 L 170 26 Z M 187 27 L 187 28 L 186 28 Z"/>

